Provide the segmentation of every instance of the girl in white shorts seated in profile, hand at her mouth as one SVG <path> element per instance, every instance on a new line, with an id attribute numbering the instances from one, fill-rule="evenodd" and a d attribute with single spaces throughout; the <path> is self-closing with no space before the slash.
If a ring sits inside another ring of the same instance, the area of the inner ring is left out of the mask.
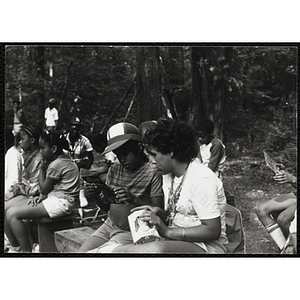
<path id="1" fill-rule="evenodd" d="M 58 218 L 72 213 L 79 201 L 79 170 L 75 162 L 63 153 L 68 147 L 57 132 L 43 133 L 39 145 L 44 161 L 40 166 L 40 196 L 28 198 L 9 207 L 5 219 L 22 252 L 31 252 L 24 219 Z"/>

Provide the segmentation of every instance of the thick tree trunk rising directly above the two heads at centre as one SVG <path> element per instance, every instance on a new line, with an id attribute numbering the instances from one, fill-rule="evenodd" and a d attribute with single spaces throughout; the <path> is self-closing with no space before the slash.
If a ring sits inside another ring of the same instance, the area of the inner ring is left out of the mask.
<path id="1" fill-rule="evenodd" d="M 142 123 L 162 115 L 161 71 L 158 47 L 138 47 L 137 52 L 137 121 Z"/>

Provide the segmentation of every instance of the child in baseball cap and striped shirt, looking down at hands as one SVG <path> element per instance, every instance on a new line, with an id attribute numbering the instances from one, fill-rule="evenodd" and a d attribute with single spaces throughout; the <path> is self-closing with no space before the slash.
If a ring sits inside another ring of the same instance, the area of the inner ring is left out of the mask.
<path id="1" fill-rule="evenodd" d="M 141 205 L 163 208 L 162 175 L 148 162 L 138 128 L 130 123 L 110 127 L 107 147 L 102 154 L 110 151 L 116 154 L 119 162 L 111 165 L 106 184 L 114 191 L 119 203 L 110 204 L 108 218 L 78 252 L 88 252 L 108 241 L 116 245 L 131 244 L 127 220 L 131 209 Z"/>

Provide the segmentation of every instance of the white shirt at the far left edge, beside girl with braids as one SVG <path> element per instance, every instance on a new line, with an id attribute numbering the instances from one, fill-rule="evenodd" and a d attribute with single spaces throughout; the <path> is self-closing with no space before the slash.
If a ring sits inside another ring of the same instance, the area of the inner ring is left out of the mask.
<path id="1" fill-rule="evenodd" d="M 15 146 L 5 154 L 5 193 L 15 183 L 22 182 L 23 158 Z"/>

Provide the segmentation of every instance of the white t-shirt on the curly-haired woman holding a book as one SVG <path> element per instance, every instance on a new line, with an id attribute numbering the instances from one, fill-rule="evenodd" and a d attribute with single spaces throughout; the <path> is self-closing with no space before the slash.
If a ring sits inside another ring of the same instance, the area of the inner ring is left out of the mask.
<path id="1" fill-rule="evenodd" d="M 174 179 L 173 190 L 180 184 L 182 176 Z M 165 208 L 171 187 L 171 174 L 163 176 Z M 176 215 L 173 224 L 179 227 L 201 225 L 201 219 L 221 217 L 221 236 L 219 242 L 226 244 L 226 197 L 220 179 L 200 160 L 193 160 L 186 172 L 179 200 L 176 204 Z"/>

